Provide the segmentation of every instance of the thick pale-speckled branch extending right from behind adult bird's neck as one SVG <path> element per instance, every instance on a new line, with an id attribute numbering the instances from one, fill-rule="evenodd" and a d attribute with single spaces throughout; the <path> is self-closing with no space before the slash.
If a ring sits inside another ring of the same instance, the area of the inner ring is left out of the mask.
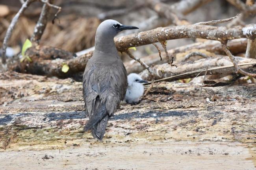
<path id="1" fill-rule="evenodd" d="M 203 38 L 208 40 L 233 40 L 238 38 L 256 38 L 256 25 L 227 29 L 209 25 L 179 25 L 173 27 L 160 27 L 137 34 L 115 38 L 119 51 L 130 47 L 137 47 L 156 42 L 164 42 L 179 38 Z"/>

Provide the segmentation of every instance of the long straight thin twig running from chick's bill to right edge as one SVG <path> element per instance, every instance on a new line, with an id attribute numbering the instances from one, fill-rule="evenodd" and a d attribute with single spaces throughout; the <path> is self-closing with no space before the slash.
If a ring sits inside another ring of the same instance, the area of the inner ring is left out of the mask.
<path id="1" fill-rule="evenodd" d="M 241 63 L 241 64 L 238 64 L 238 65 L 239 66 L 244 66 L 244 65 L 253 65 L 253 64 L 256 64 L 256 62 Z M 208 71 L 219 70 L 219 69 L 226 69 L 226 68 L 232 68 L 232 67 L 234 67 L 234 65 L 212 67 L 212 68 L 208 69 Z M 204 72 L 204 71 L 206 71 L 206 69 L 198 69 L 198 70 L 195 70 L 195 71 L 185 72 L 185 73 L 178 74 L 178 75 L 175 75 L 175 76 L 170 76 L 170 77 L 167 77 L 167 78 L 162 78 L 162 79 L 159 79 L 159 80 L 155 80 L 154 82 L 158 83 L 158 82 L 161 82 L 161 81 L 179 80 L 179 79 L 183 79 L 185 76 L 189 76 L 189 75 L 192 75 L 192 74 L 198 74 L 198 73 L 200 74 L 201 72 Z M 143 85 L 149 85 L 149 84 L 151 84 L 151 82 L 143 83 Z"/>

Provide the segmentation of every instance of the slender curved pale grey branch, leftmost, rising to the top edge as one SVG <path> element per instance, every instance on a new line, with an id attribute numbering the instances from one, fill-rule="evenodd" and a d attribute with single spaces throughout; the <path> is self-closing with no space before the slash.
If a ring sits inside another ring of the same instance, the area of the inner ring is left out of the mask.
<path id="1" fill-rule="evenodd" d="M 11 34 L 13 32 L 13 29 L 15 27 L 15 25 L 17 24 L 20 15 L 22 13 L 24 13 L 24 11 L 26 10 L 26 8 L 30 5 L 31 2 L 33 2 L 34 0 L 26 0 L 26 2 L 24 2 L 21 6 L 21 8 L 19 9 L 18 13 L 13 17 L 13 19 L 11 20 L 11 24 L 9 25 L 7 31 L 6 31 L 6 35 L 4 37 L 4 42 L 3 42 L 3 46 L 2 46 L 2 64 L 6 64 L 6 48 L 9 42 L 9 39 L 11 37 Z"/>

